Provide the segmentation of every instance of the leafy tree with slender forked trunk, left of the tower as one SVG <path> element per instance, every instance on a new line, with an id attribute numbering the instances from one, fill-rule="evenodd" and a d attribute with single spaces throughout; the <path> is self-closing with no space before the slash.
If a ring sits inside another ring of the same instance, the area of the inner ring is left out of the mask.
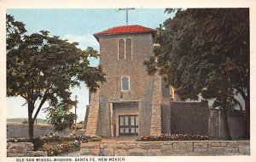
<path id="1" fill-rule="evenodd" d="M 58 109 L 60 104 L 73 105 L 70 88 L 84 81 L 95 92 L 105 81 L 101 66 L 91 67 L 89 57 L 99 54 L 92 47 L 85 51 L 78 43 L 69 43 L 48 31 L 26 35 L 25 25 L 6 16 L 7 96 L 20 96 L 28 105 L 29 137 L 44 103 Z"/>

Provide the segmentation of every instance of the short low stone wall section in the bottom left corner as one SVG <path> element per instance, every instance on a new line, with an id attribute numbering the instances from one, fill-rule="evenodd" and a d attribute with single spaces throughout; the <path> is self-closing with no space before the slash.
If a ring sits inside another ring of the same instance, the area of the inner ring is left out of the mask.
<path id="1" fill-rule="evenodd" d="M 47 156 L 46 152 L 33 151 L 34 145 L 32 142 L 7 142 L 8 157 L 35 157 Z"/>

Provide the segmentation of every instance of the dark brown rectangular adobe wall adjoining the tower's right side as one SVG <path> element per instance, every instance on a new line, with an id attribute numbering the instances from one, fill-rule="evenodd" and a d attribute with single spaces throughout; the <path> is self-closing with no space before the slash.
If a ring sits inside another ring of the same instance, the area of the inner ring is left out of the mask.
<path id="1" fill-rule="evenodd" d="M 172 133 L 208 135 L 208 103 L 171 102 Z"/>

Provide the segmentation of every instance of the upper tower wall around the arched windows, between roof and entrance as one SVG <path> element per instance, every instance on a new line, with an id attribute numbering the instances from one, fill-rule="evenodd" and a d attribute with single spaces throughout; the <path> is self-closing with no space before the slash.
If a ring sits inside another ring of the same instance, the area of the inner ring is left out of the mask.
<path id="1" fill-rule="evenodd" d="M 132 40 L 132 59 L 118 59 L 118 42 L 122 38 Z M 100 36 L 100 64 L 107 75 L 107 81 L 100 88 L 100 95 L 106 95 L 109 102 L 148 100 L 152 98 L 153 76 L 148 75 L 143 61 L 152 56 L 152 34 L 127 34 Z M 143 42 L 143 43 L 142 43 Z M 130 80 L 130 90 L 122 92 L 121 78 Z"/>

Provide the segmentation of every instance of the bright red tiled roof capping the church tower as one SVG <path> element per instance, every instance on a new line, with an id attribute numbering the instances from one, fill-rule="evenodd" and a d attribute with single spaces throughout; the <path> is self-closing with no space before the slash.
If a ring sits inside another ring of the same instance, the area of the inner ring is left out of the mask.
<path id="1" fill-rule="evenodd" d="M 124 25 L 110 28 L 105 31 L 97 32 L 94 34 L 97 40 L 99 40 L 99 36 L 106 35 L 118 35 L 118 34 L 134 34 L 134 33 L 154 33 L 154 29 L 144 27 L 141 25 Z"/>

